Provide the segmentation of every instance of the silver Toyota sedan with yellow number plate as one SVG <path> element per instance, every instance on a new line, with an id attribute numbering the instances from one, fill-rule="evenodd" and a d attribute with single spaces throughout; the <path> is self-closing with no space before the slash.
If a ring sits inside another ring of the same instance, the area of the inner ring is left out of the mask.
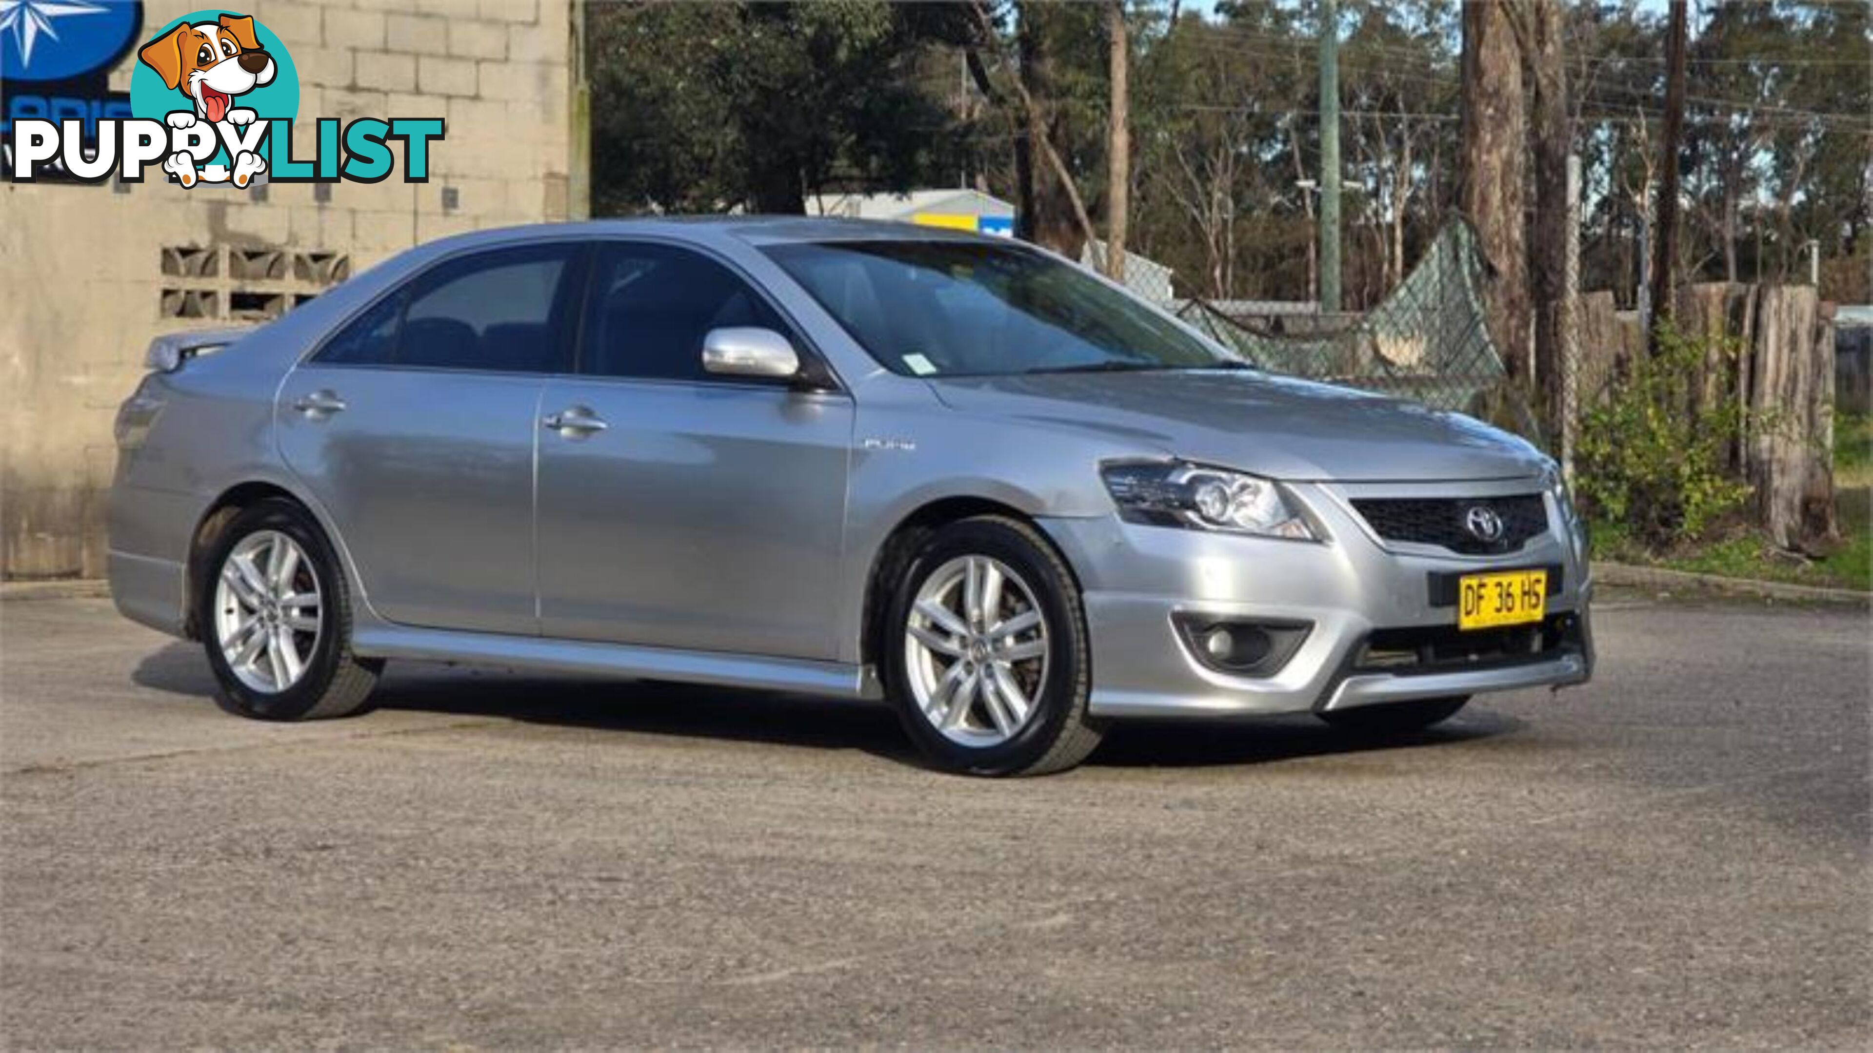
<path id="1" fill-rule="evenodd" d="M 111 588 L 253 718 L 491 663 L 882 699 L 1008 776 L 1126 718 L 1408 733 L 1594 667 L 1538 450 L 1270 377 L 1008 240 L 481 230 L 150 367 Z"/>

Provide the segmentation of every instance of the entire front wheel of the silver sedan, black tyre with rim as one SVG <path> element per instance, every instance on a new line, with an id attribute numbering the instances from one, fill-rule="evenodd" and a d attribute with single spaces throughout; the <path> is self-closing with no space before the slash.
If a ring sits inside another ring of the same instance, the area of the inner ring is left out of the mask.
<path id="1" fill-rule="evenodd" d="M 980 618 L 968 618 L 972 581 L 981 583 Z M 948 618 L 933 620 L 931 603 Z M 1086 712 L 1092 646 L 1079 585 L 1019 519 L 981 515 L 925 538 L 895 583 L 878 648 L 899 719 L 938 768 L 1041 776 L 1099 744 L 1101 725 Z"/>

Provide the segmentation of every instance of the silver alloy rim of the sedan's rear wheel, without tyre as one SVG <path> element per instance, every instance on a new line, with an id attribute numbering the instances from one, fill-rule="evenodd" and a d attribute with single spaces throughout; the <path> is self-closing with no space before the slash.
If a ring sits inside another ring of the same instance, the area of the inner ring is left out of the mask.
<path id="1" fill-rule="evenodd" d="M 305 676 L 318 648 L 318 575 L 279 530 L 247 534 L 221 562 L 215 643 L 242 684 L 279 693 Z"/>

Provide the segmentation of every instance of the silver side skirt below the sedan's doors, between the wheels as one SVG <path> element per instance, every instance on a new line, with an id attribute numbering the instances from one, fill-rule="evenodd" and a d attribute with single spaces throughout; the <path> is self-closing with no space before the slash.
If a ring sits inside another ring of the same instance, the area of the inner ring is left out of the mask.
<path id="1" fill-rule="evenodd" d="M 408 626 L 354 626 L 352 650 L 365 658 L 405 658 L 418 661 L 459 661 L 465 665 L 513 665 L 553 673 L 594 676 L 639 676 L 878 699 L 869 669 L 843 661 L 805 661 L 708 650 L 674 650 L 618 643 L 554 641 L 498 633 L 418 630 Z"/>

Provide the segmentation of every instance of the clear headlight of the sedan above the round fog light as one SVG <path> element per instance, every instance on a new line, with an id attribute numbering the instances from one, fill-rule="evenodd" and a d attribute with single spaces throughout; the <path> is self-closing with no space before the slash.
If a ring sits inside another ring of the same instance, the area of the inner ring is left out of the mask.
<path id="1" fill-rule="evenodd" d="M 1118 515 L 1131 523 L 1319 540 L 1274 480 L 1184 461 L 1114 461 L 1099 476 Z"/>

